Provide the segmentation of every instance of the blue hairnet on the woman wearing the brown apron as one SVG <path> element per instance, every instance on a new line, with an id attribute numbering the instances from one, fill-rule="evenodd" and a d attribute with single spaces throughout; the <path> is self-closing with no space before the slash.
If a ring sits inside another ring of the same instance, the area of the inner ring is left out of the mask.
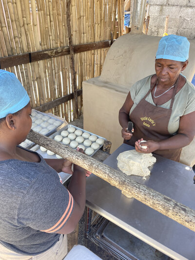
<path id="1" fill-rule="evenodd" d="M 156 59 L 186 61 L 189 57 L 190 42 L 186 37 L 168 35 L 160 39 Z"/>

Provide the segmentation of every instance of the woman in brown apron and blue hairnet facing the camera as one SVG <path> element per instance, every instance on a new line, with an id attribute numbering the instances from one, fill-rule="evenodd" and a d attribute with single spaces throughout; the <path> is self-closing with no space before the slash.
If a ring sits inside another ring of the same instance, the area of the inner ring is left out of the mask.
<path id="1" fill-rule="evenodd" d="M 124 143 L 137 152 L 179 161 L 182 147 L 194 139 L 195 87 L 180 74 L 188 65 L 189 48 L 185 37 L 163 37 L 156 52 L 156 74 L 130 88 L 119 123 Z M 128 121 L 134 124 L 133 133 L 127 132 Z"/>

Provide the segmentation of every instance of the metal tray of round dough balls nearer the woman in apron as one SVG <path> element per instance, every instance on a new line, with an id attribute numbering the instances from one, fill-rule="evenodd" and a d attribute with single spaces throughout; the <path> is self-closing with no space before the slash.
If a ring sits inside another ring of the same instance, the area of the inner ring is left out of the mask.
<path id="1" fill-rule="evenodd" d="M 94 135 L 88 131 L 80 129 L 74 125 L 68 124 L 56 133 L 49 136 L 60 143 L 70 146 L 73 149 L 82 148 L 86 155 L 93 156 L 104 144 L 105 138 Z M 60 158 L 53 152 L 36 145 L 32 148 L 40 153 L 44 158 Z M 42 154 L 45 153 L 45 154 Z"/>

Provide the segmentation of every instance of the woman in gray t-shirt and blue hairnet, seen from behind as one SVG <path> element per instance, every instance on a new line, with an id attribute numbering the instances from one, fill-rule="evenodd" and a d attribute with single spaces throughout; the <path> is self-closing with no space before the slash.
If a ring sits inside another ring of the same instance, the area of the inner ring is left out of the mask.
<path id="1" fill-rule="evenodd" d="M 87 173 L 18 146 L 31 129 L 27 92 L 0 70 L 0 259 L 62 260 L 85 207 Z M 72 173 L 66 189 L 57 172 Z"/>

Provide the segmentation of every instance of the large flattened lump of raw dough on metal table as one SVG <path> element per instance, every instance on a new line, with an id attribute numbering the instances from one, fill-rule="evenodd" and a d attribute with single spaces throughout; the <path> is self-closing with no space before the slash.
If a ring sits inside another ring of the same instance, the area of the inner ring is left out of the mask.
<path id="1" fill-rule="evenodd" d="M 150 154 L 141 154 L 136 150 L 125 151 L 117 157 L 118 168 L 126 175 L 137 175 L 145 179 L 150 175 L 149 166 L 156 162 L 156 158 Z"/>

